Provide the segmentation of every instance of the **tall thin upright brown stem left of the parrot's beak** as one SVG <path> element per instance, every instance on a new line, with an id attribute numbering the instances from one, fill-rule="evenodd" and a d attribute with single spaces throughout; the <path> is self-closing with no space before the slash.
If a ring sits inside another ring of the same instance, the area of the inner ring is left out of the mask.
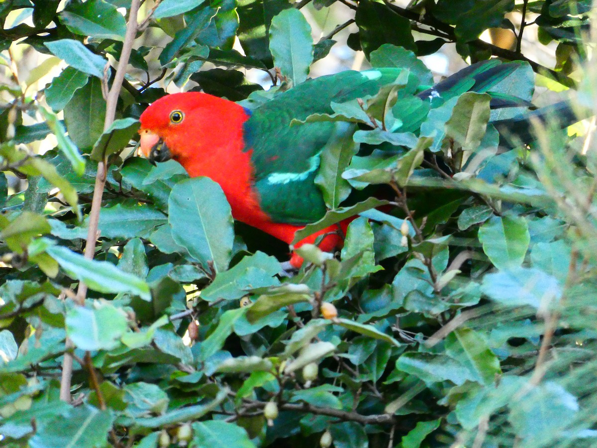
<path id="1" fill-rule="evenodd" d="M 125 33 L 124 42 L 122 44 L 121 57 L 118 60 L 116 67 L 116 75 L 112 82 L 112 88 L 107 94 L 106 99 L 106 118 L 104 119 L 104 131 L 112 125 L 116 115 L 116 103 L 122 87 L 125 72 L 127 71 L 128 59 L 131 56 L 131 49 L 133 48 L 133 41 L 137 34 L 137 13 L 139 13 L 139 0 L 131 1 L 131 9 L 127 23 L 127 32 Z M 104 192 L 104 185 L 106 185 L 106 161 L 103 160 L 97 165 L 96 185 L 93 191 L 93 200 L 91 201 L 91 211 L 89 213 L 89 228 L 87 231 L 87 243 L 85 244 L 85 258 L 91 260 L 96 251 L 96 241 L 98 236 L 97 225 L 100 219 L 101 198 Z M 76 294 L 76 301 L 79 305 L 85 304 L 85 297 L 87 296 L 87 285 L 79 282 L 79 288 Z M 60 379 L 60 400 L 70 403 L 70 381 L 72 379 L 73 358 L 70 355 L 69 349 L 73 348 L 73 343 L 70 339 L 65 342 L 66 352 L 64 353 L 64 360 L 62 363 L 62 375 Z"/>

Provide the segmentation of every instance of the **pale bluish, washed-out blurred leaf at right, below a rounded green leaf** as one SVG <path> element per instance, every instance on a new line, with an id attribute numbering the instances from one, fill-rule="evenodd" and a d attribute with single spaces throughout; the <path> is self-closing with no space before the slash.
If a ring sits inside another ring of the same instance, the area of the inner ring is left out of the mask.
<path id="1" fill-rule="evenodd" d="M 483 277 L 482 292 L 505 306 L 549 309 L 562 297 L 559 281 L 536 268 L 515 267 Z"/>

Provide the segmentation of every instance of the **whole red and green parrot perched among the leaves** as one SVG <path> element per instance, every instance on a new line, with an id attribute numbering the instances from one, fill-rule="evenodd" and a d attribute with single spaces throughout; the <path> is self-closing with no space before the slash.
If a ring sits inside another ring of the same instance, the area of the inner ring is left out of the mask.
<path id="1" fill-rule="evenodd" d="M 420 78 L 413 70 L 346 71 L 309 79 L 252 111 L 205 93 L 170 94 L 141 115 L 140 147 L 152 161 L 174 159 L 189 176 L 206 176 L 219 183 L 236 220 L 291 244 L 298 229 L 325 214 L 326 204 L 315 178 L 322 148 L 338 138 L 334 119 L 291 125 L 293 119 L 305 121 L 312 114 L 334 116 L 338 109 L 334 111 L 332 103 L 374 97 L 384 86 L 396 85 L 402 75 L 397 97 L 409 106 L 392 110 L 399 122 L 410 123 L 410 132 L 417 133 L 430 109 L 466 91 L 489 92 L 494 108 L 528 106 L 528 102 L 490 92 L 519 67 L 496 60 L 478 63 L 432 88 L 419 87 Z M 501 125 L 510 133 L 516 131 L 503 122 Z M 516 125 L 525 130 L 529 126 L 524 121 Z M 354 130 L 345 128 L 344 132 Z M 348 222 L 322 229 L 294 247 L 313 243 L 320 235 L 324 235 L 319 242 L 322 250 L 341 247 Z M 301 262 L 293 254 L 291 265 L 298 267 Z"/>

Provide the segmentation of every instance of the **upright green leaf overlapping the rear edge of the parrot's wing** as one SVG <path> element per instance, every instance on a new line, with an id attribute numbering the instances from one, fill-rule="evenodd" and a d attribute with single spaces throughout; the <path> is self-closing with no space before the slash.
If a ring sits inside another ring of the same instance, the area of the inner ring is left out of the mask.
<path id="1" fill-rule="evenodd" d="M 352 139 L 354 127 L 338 123 L 334 134 L 321 151 L 319 171 L 315 183 L 321 187 L 325 205 L 337 208 L 350 194 L 350 184 L 342 178 L 350 159 L 359 150 Z"/>

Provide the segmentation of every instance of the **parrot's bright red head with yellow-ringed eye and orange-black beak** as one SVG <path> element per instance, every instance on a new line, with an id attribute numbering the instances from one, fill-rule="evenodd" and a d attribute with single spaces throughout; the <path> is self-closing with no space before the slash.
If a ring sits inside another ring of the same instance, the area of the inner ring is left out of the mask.
<path id="1" fill-rule="evenodd" d="M 140 146 L 150 161 L 182 161 L 208 149 L 208 142 L 226 136 L 237 119 L 247 119 L 242 106 L 201 92 L 173 93 L 141 114 Z"/>

